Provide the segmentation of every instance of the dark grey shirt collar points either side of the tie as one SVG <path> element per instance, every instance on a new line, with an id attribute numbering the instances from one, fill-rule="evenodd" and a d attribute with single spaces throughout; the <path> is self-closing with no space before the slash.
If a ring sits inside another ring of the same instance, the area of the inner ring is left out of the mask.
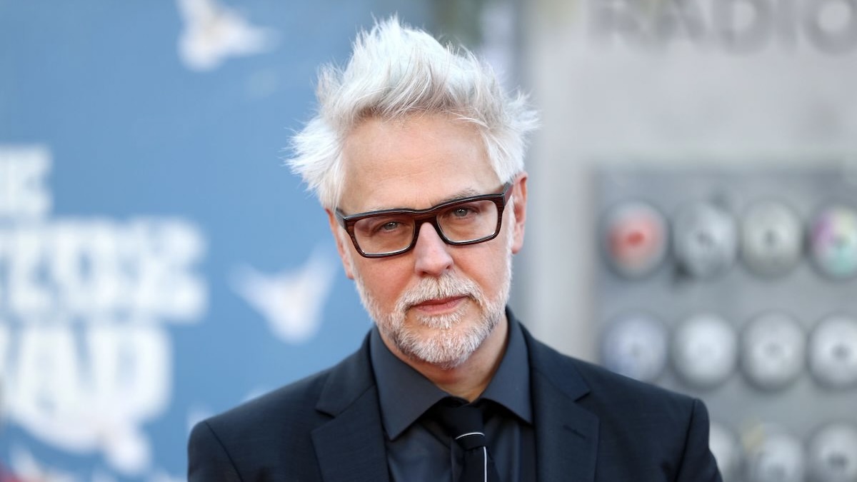
<path id="1" fill-rule="evenodd" d="M 512 313 L 507 310 L 506 315 L 509 322 L 506 352 L 494 378 L 479 398 L 500 403 L 519 418 L 532 423 L 527 346 Z M 369 335 L 369 356 L 381 401 L 381 420 L 390 440 L 399 437 L 428 408 L 449 396 L 390 352 L 377 327 L 372 328 Z"/>

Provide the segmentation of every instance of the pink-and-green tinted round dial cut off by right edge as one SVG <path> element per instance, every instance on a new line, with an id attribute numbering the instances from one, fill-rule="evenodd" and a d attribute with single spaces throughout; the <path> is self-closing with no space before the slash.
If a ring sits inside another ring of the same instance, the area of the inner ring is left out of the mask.
<path id="1" fill-rule="evenodd" d="M 824 208 L 812 220 L 812 261 L 834 279 L 857 274 L 857 211 L 845 206 Z"/>

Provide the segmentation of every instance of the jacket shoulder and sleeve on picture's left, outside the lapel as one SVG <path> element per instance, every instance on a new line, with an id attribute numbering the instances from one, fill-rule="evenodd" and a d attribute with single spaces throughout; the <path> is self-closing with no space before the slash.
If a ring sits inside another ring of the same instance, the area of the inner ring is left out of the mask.
<path id="1" fill-rule="evenodd" d="M 332 368 L 196 424 L 188 442 L 189 481 L 319 479 L 313 431 L 333 419 L 330 407 L 347 407 L 374 386 L 366 346 Z"/>

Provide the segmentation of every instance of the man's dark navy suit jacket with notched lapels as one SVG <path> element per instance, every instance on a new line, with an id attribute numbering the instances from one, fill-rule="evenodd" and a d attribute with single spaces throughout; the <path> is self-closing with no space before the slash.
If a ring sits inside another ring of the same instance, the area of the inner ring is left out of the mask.
<path id="1" fill-rule="evenodd" d="M 524 339 L 539 481 L 721 480 L 701 401 Z M 197 424 L 188 478 L 383 482 L 384 439 L 367 337 L 339 365 Z"/>

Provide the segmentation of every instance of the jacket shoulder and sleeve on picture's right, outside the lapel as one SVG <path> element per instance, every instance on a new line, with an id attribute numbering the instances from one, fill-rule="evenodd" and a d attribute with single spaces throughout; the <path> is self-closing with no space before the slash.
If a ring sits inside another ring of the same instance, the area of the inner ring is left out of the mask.
<path id="1" fill-rule="evenodd" d="M 568 357 L 536 340 L 530 346 L 534 375 L 596 416 L 602 479 L 720 481 L 702 401 Z"/>

